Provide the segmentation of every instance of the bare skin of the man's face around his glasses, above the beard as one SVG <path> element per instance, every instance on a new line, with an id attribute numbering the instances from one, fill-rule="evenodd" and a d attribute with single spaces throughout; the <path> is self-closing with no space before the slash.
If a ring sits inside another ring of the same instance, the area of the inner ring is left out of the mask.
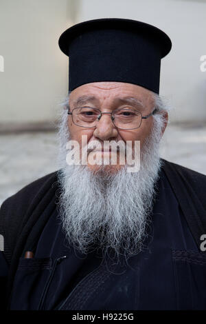
<path id="1" fill-rule="evenodd" d="M 78 100 L 81 106 L 89 106 L 98 108 L 101 112 L 112 112 L 122 105 L 129 105 L 135 110 L 139 110 L 143 116 L 150 114 L 154 110 L 154 99 L 152 92 L 142 88 L 139 85 L 122 82 L 95 82 L 81 85 L 73 90 L 69 97 L 69 106 L 72 111 L 76 108 Z M 153 124 L 152 117 L 143 119 L 141 126 L 135 130 L 122 130 L 115 127 L 111 120 L 111 114 L 102 114 L 100 121 L 97 122 L 95 128 L 82 128 L 75 125 L 68 117 L 69 132 L 72 140 L 78 141 L 81 148 L 82 135 L 87 135 L 87 143 L 91 141 L 140 141 L 140 147 L 144 145 L 145 139 L 151 132 Z M 101 152 L 104 154 L 108 152 Z M 95 171 L 98 170 L 98 165 L 90 165 L 88 167 Z M 117 171 L 121 168 L 117 156 L 117 165 L 110 165 L 110 168 Z"/>

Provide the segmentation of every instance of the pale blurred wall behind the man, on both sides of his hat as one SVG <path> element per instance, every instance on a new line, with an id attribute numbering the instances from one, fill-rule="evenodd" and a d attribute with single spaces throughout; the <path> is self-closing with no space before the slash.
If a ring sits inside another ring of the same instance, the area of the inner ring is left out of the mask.
<path id="1" fill-rule="evenodd" d="M 0 0 L 1 130 L 53 127 L 68 89 L 58 37 L 100 17 L 137 19 L 168 33 L 173 47 L 162 60 L 160 93 L 174 107 L 170 121 L 206 121 L 205 0 Z"/>

